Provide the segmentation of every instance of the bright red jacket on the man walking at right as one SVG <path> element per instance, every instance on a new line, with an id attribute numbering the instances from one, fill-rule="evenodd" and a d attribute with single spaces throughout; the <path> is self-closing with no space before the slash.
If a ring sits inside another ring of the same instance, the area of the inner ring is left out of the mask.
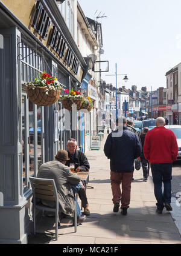
<path id="1" fill-rule="evenodd" d="M 154 127 L 145 136 L 143 150 L 150 163 L 173 163 L 178 153 L 176 136 L 164 126 Z"/>

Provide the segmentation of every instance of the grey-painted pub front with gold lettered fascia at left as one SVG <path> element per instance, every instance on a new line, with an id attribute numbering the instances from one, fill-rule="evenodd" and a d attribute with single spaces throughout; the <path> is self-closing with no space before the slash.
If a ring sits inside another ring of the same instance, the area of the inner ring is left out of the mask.
<path id="1" fill-rule="evenodd" d="M 60 99 L 46 107 L 31 103 L 25 83 L 46 72 L 63 88 L 76 89 L 86 62 L 56 2 L 4 0 L 0 7 L 0 243 L 27 243 L 32 230 L 29 177 L 36 177 L 40 164 L 54 160 L 57 150 L 66 149 L 70 136 L 78 140 L 78 129 L 72 129 L 71 112 Z"/>

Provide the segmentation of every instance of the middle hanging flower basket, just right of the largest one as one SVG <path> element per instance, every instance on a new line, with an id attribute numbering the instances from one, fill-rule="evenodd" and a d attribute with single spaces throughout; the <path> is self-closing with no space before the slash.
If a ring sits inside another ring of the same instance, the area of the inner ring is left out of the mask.
<path id="1" fill-rule="evenodd" d="M 65 89 L 64 90 L 64 95 L 62 96 L 61 102 L 62 102 L 62 107 L 65 109 L 71 111 L 72 110 L 72 104 L 77 105 L 77 110 L 81 109 L 81 104 L 83 101 L 83 97 L 81 96 L 80 92 L 77 92 L 77 90 L 69 90 Z"/>

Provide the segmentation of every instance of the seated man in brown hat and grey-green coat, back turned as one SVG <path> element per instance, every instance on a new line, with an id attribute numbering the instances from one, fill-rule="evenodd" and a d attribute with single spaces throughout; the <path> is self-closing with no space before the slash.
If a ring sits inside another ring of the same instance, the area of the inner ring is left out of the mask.
<path id="1" fill-rule="evenodd" d="M 59 197 L 59 212 L 70 217 L 74 217 L 74 198 L 77 203 L 77 224 L 86 220 L 86 216 L 81 214 L 75 192 L 80 189 L 80 178 L 65 166 L 69 160 L 66 150 L 59 150 L 55 156 L 56 160 L 42 164 L 37 173 L 37 178 L 54 179 Z M 54 207 L 54 202 L 40 200 L 42 204 Z"/>

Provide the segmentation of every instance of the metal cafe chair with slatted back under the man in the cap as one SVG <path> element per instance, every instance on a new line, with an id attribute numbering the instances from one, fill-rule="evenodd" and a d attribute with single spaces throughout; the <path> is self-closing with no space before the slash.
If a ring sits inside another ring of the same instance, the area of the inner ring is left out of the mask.
<path id="1" fill-rule="evenodd" d="M 56 183 L 53 179 L 30 177 L 31 188 L 33 190 L 33 231 L 36 234 L 36 209 L 48 212 L 55 212 L 56 215 L 56 240 L 58 240 L 59 220 L 59 199 L 57 194 Z M 36 203 L 36 198 L 55 202 L 55 207 L 48 207 L 42 203 Z M 77 207 L 75 203 L 74 214 L 75 232 L 77 232 Z"/>

